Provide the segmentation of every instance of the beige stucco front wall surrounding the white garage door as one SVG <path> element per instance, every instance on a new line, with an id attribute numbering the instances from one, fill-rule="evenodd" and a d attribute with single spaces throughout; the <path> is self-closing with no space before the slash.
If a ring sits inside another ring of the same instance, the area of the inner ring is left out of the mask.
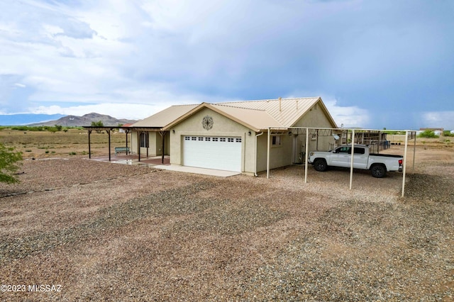
<path id="1" fill-rule="evenodd" d="M 213 118 L 213 128 L 204 129 L 202 120 L 204 116 Z M 175 133 L 173 133 L 175 130 Z M 251 132 L 249 135 L 248 133 Z M 254 132 L 248 127 L 236 123 L 229 118 L 212 111 L 209 108 L 203 108 L 201 111 L 194 113 L 193 116 L 178 123 L 170 129 L 170 163 L 182 164 L 182 142 L 184 136 L 236 136 L 241 140 L 241 169 L 242 172 L 250 174 L 254 172 L 255 142 Z"/>

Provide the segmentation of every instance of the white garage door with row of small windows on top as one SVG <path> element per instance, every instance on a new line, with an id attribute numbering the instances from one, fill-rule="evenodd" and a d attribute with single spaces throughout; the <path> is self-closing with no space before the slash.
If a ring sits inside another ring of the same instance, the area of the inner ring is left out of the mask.
<path id="1" fill-rule="evenodd" d="M 183 164 L 241 172 L 241 138 L 216 136 L 185 136 Z"/>

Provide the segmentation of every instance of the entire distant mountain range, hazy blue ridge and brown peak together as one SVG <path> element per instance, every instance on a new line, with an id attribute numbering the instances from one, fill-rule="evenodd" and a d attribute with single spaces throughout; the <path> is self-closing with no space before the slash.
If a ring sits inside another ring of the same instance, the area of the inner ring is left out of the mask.
<path id="1" fill-rule="evenodd" d="M 11 114 L 0 115 L 0 125 L 62 125 L 67 127 L 78 127 L 91 125 L 92 122 L 101 121 L 106 126 L 118 124 L 135 123 L 135 120 L 118 119 L 105 114 L 88 113 L 84 116 L 63 116 L 62 114 Z"/>

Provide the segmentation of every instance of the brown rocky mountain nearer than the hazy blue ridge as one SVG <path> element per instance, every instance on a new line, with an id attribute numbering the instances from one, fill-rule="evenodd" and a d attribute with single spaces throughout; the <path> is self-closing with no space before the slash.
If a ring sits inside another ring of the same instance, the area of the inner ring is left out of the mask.
<path id="1" fill-rule="evenodd" d="M 92 125 L 92 122 L 99 122 L 101 121 L 105 126 L 116 126 L 118 124 L 126 124 L 126 123 L 135 123 L 135 120 L 126 120 L 126 119 L 118 119 L 113 118 L 111 116 L 106 116 L 105 114 L 99 113 L 88 113 L 84 116 L 63 116 L 62 118 L 57 119 L 56 121 L 47 121 L 41 123 L 33 123 L 30 124 L 31 126 L 36 125 L 62 125 L 68 127 L 77 127 L 77 126 L 89 126 Z"/>

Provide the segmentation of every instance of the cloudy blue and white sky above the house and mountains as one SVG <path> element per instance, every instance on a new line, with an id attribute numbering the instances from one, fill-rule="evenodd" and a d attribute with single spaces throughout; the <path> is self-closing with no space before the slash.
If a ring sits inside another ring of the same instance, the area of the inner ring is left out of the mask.
<path id="1" fill-rule="evenodd" d="M 453 16 L 450 0 L 0 0 L 0 114 L 321 96 L 345 127 L 454 129 Z"/>

